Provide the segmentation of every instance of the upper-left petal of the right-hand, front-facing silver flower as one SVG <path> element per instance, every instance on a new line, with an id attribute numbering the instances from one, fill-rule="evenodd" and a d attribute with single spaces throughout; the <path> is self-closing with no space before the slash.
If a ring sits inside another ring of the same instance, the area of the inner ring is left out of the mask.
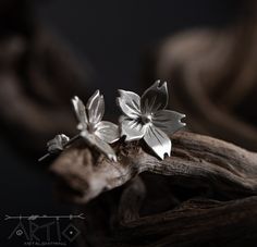
<path id="1" fill-rule="evenodd" d="M 123 113 L 131 118 L 140 115 L 140 97 L 133 91 L 119 90 L 120 97 L 117 98 L 118 106 Z"/>

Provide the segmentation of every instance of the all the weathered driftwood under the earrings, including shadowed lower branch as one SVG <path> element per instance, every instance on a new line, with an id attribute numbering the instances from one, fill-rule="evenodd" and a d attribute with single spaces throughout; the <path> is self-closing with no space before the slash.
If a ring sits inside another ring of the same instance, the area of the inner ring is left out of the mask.
<path id="1" fill-rule="evenodd" d="M 192 133 L 172 140 L 163 161 L 135 143 L 114 146 L 117 163 L 84 145 L 56 160 L 62 196 L 85 203 L 82 246 L 255 245 L 257 153 Z"/>

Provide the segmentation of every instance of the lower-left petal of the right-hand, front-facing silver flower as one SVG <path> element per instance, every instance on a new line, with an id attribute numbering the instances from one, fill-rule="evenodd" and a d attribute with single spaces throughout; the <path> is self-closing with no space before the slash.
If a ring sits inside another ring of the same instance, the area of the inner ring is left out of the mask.
<path id="1" fill-rule="evenodd" d="M 140 124 L 137 120 L 121 116 L 120 124 L 121 136 L 125 136 L 126 141 L 138 140 L 146 133 L 146 125 Z"/>

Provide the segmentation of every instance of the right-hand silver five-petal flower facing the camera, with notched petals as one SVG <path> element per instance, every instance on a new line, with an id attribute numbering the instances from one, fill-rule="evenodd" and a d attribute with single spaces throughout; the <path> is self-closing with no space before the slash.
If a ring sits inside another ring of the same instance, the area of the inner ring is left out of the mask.
<path id="1" fill-rule="evenodd" d="M 124 115 L 120 118 L 121 136 L 126 141 L 144 138 L 147 146 L 160 158 L 170 156 L 170 135 L 185 126 L 185 114 L 164 110 L 168 104 L 167 83 L 157 81 L 142 96 L 119 90 L 118 106 Z M 169 136 L 168 136 L 169 135 Z"/>

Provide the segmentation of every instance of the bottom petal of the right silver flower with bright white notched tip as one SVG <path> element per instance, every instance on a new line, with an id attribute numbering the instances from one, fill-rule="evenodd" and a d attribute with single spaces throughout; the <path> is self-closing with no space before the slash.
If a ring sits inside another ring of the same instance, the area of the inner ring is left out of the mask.
<path id="1" fill-rule="evenodd" d="M 164 159 L 164 155 L 170 156 L 171 153 L 171 140 L 167 136 L 164 132 L 155 127 L 154 125 L 149 125 L 147 127 L 146 134 L 144 136 L 144 140 L 147 146 L 160 158 Z"/>

